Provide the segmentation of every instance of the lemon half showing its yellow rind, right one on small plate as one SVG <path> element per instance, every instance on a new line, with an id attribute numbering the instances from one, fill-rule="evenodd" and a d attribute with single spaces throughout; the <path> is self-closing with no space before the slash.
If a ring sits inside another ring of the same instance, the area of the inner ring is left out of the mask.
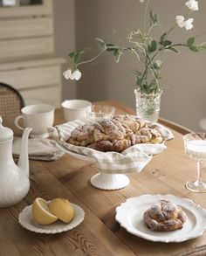
<path id="1" fill-rule="evenodd" d="M 55 198 L 49 203 L 49 209 L 65 223 L 70 223 L 74 216 L 73 207 L 67 199 Z"/>

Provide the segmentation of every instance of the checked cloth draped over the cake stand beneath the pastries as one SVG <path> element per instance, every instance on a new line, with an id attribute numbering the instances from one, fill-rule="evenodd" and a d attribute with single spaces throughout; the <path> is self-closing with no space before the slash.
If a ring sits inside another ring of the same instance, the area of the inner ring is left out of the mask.
<path id="1" fill-rule="evenodd" d="M 89 121 L 76 120 L 56 126 L 59 135 L 58 144 L 68 154 L 72 152 L 72 156 L 76 156 L 77 158 L 81 158 L 80 156 L 87 156 L 88 159 L 93 159 L 96 167 L 101 172 L 140 172 L 149 163 L 149 161 L 152 159 L 152 156 L 160 154 L 163 150 L 167 149 L 164 143 L 136 144 L 120 153 L 113 151 L 100 152 L 86 147 L 75 146 L 66 142 L 74 128 L 79 125 L 84 125 L 88 122 Z M 165 128 L 157 123 L 153 123 L 151 125 L 161 133 L 164 140 L 170 140 L 174 138 L 174 135 L 170 130 L 168 130 L 168 128 Z"/>

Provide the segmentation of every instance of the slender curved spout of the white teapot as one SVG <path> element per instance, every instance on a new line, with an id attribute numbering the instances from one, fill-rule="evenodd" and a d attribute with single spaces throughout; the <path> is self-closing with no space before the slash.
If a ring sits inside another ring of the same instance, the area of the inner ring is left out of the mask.
<path id="1" fill-rule="evenodd" d="M 26 176 L 29 176 L 29 157 L 28 157 L 28 138 L 32 128 L 25 128 L 22 135 L 21 153 L 18 159 L 17 166 L 24 171 Z"/>

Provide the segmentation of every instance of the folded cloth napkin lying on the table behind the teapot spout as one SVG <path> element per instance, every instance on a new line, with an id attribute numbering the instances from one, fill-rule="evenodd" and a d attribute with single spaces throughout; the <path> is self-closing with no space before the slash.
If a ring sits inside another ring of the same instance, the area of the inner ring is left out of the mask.
<path id="1" fill-rule="evenodd" d="M 19 156 L 21 151 L 21 138 L 15 137 L 13 141 L 13 156 Z M 49 139 L 29 139 L 28 140 L 29 158 L 34 160 L 53 161 L 58 160 L 65 154 L 59 149 L 57 142 Z"/>

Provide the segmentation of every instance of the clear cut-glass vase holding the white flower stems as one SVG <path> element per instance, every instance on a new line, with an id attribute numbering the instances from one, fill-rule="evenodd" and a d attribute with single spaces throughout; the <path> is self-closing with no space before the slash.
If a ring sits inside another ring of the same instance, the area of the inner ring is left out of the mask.
<path id="1" fill-rule="evenodd" d="M 161 93 L 141 93 L 138 89 L 134 90 L 136 102 L 136 114 L 144 120 L 158 121 L 161 109 Z"/>

